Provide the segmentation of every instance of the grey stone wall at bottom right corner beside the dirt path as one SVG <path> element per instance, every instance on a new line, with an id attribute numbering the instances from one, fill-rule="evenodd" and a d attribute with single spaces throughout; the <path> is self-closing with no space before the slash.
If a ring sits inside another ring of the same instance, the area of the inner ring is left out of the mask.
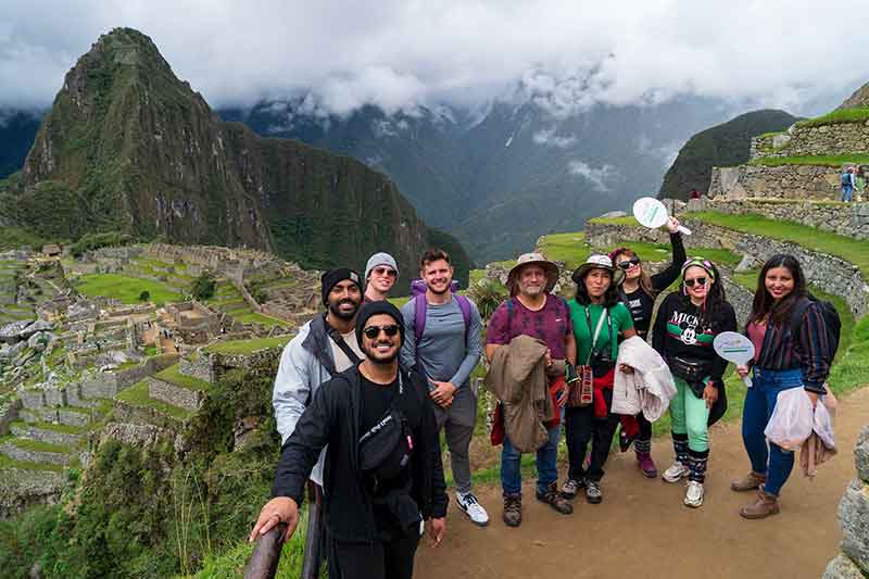
<path id="1" fill-rule="evenodd" d="M 857 438 L 854 463 L 857 477 L 839 503 L 842 553 L 827 566 L 823 579 L 869 577 L 869 426 Z"/>

